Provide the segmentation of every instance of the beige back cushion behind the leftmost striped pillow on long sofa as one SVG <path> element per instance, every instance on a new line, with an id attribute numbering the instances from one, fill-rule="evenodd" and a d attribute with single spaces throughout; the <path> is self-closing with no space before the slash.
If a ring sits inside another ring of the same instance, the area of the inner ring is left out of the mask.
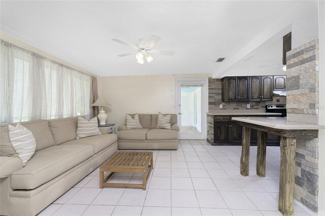
<path id="1" fill-rule="evenodd" d="M 54 138 L 52 136 L 51 130 L 49 128 L 49 123 L 47 120 L 35 120 L 28 122 L 20 122 L 25 128 L 30 130 L 36 140 L 36 151 L 54 146 Z M 10 124 L 16 126 L 17 123 Z M 11 146 L 9 141 L 9 131 L 8 126 L 1 127 L 1 156 L 18 156 L 14 148 Z"/>

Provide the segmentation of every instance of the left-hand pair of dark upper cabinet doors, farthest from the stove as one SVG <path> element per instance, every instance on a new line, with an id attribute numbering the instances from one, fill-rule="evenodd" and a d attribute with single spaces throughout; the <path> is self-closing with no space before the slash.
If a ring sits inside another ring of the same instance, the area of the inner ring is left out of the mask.
<path id="1" fill-rule="evenodd" d="M 248 77 L 225 77 L 222 79 L 222 101 L 248 101 Z"/>

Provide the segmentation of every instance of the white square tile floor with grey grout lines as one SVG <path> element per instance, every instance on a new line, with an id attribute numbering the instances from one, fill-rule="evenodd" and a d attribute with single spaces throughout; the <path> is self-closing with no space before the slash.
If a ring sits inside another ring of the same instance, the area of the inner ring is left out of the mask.
<path id="1" fill-rule="evenodd" d="M 99 188 L 99 169 L 39 215 L 281 215 L 278 211 L 278 147 L 267 147 L 267 176 L 256 175 L 256 147 L 249 176 L 240 175 L 240 146 L 180 140 L 177 151 L 152 151 L 147 190 Z M 141 183 L 139 174 L 118 173 L 112 182 Z M 295 206 L 295 215 L 308 215 Z"/>

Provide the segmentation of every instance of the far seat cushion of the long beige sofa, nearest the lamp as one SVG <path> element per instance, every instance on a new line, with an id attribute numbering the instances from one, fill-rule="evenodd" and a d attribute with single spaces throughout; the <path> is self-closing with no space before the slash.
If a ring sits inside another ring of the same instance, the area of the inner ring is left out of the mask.
<path id="1" fill-rule="evenodd" d="M 111 146 L 117 141 L 116 134 L 103 134 L 98 136 L 89 136 L 82 139 L 74 139 L 69 142 L 64 142 L 62 145 L 89 145 L 93 146 L 94 153 L 97 154 L 106 147 Z"/>

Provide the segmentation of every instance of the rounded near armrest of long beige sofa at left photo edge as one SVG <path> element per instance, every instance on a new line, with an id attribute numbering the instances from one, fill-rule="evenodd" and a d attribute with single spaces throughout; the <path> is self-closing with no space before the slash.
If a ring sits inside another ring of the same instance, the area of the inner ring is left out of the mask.
<path id="1" fill-rule="evenodd" d="M 0 177 L 6 178 L 11 173 L 23 168 L 22 160 L 15 157 L 0 157 Z"/>

